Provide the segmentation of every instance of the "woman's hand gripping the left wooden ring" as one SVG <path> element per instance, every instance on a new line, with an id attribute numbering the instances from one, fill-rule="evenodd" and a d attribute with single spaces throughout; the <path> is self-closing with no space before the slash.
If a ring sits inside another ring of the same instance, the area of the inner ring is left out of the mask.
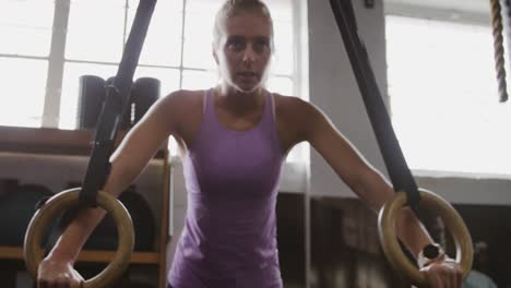
<path id="1" fill-rule="evenodd" d="M 80 288 L 83 281 L 83 277 L 73 268 L 73 263 L 68 261 L 47 257 L 37 269 L 38 288 Z"/>

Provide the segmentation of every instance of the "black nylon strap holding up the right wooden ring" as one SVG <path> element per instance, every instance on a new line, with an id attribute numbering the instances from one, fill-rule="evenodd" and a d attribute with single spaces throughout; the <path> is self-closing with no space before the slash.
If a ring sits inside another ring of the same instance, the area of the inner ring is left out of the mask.
<path id="1" fill-rule="evenodd" d="M 344 46 L 391 182 L 395 191 L 407 193 L 408 205 L 417 214 L 419 202 L 417 183 L 406 165 L 387 107 L 378 88 L 366 47 L 358 35 L 352 0 L 330 0 L 330 4 L 343 37 Z"/>

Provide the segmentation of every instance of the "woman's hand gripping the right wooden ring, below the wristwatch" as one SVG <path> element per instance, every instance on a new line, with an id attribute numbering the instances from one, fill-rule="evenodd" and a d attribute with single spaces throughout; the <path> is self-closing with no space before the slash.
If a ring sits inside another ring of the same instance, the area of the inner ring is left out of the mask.
<path id="1" fill-rule="evenodd" d="M 442 257 L 420 268 L 431 288 L 461 288 L 463 271 L 453 259 Z"/>

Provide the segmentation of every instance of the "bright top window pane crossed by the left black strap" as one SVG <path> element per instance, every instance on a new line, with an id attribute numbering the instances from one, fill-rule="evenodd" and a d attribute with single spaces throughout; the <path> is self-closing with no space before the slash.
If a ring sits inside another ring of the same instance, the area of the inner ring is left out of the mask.
<path id="1" fill-rule="evenodd" d="M 139 1 L 130 0 L 127 37 Z M 182 1 L 157 1 L 145 37 L 141 64 L 179 67 L 181 62 Z"/>

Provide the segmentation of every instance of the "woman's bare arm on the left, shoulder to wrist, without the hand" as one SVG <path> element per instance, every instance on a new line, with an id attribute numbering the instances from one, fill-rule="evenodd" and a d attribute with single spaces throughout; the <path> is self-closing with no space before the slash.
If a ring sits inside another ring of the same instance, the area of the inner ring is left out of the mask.
<path id="1" fill-rule="evenodd" d="M 111 171 L 104 190 L 115 196 L 141 173 L 164 141 L 174 133 L 179 117 L 179 92 L 156 101 L 126 135 L 110 157 Z M 47 260 L 74 263 L 78 254 L 105 211 L 86 209 L 68 226 Z"/>

